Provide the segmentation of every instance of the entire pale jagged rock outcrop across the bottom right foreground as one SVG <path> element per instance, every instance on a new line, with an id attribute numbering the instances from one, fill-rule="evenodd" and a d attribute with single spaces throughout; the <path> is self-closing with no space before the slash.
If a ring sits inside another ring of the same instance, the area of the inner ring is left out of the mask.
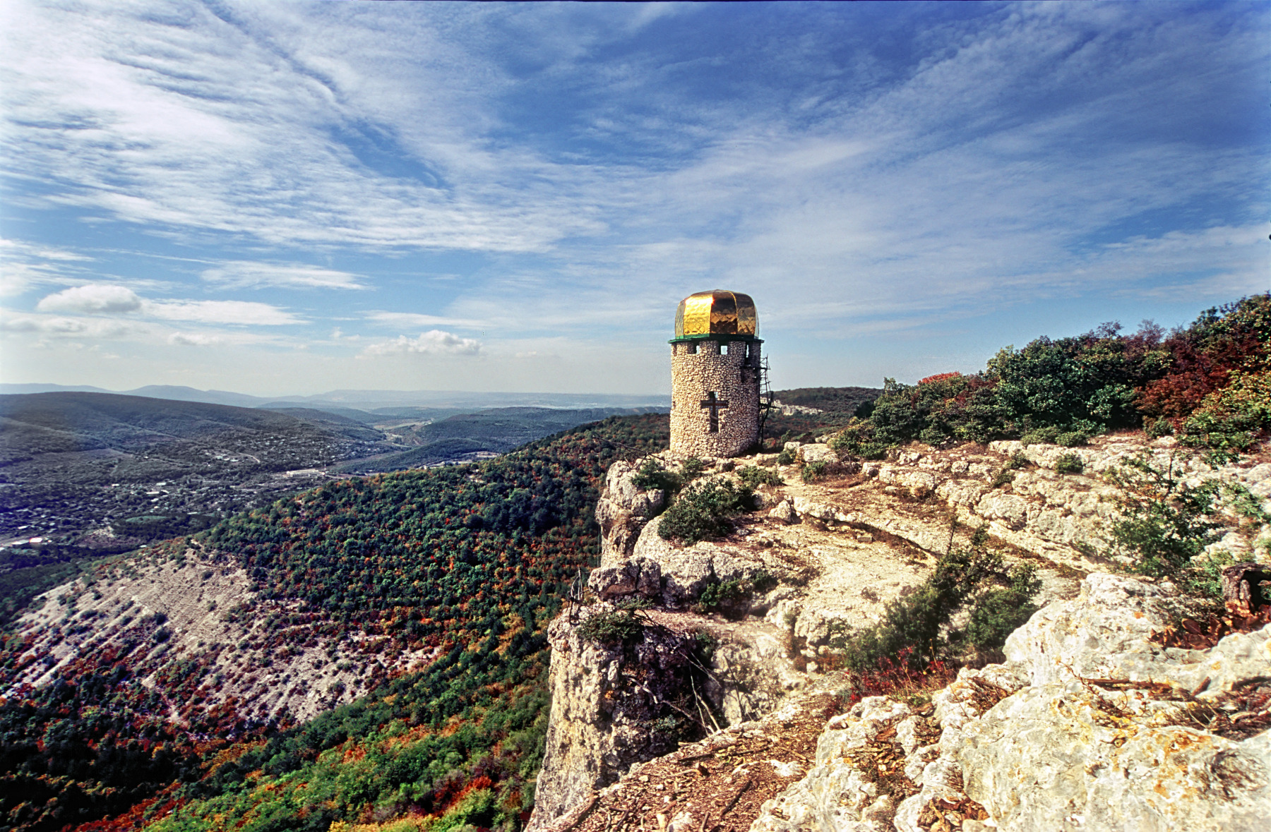
<path id="1" fill-rule="evenodd" d="M 1228 636 L 1211 650 L 1148 641 L 1167 621 L 1168 593 L 1134 578 L 1089 575 L 1078 598 L 1050 605 L 1010 636 L 1005 664 L 965 668 L 933 696 L 943 729 L 938 744 L 919 744 L 918 718 L 905 705 L 859 702 L 826 724 L 816 767 L 765 804 L 752 832 L 919 832 L 927 804 L 965 798 L 991 819 L 967 821 L 963 829 L 1266 829 L 1271 733 L 1224 739 L 1172 724 L 1186 721 L 1178 701 L 1154 701 L 1146 690 L 1103 691 L 1074 676 L 1188 690 L 1209 677 L 1204 699 L 1267 674 L 1271 626 Z M 1000 700 L 981 713 L 985 691 L 994 688 Z M 896 807 L 891 824 L 854 826 L 871 821 L 874 793 L 843 755 L 887 724 L 896 725 L 905 774 L 920 791 Z"/>

